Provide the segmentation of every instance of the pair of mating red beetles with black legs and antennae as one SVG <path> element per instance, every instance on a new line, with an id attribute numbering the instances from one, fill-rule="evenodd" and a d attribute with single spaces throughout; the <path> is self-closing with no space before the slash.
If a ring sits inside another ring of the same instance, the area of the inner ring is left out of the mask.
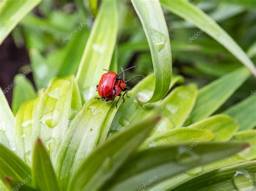
<path id="1" fill-rule="evenodd" d="M 126 83 L 136 77 L 142 76 L 142 75 L 138 75 L 138 76 L 132 77 L 127 81 L 124 80 L 124 77 L 125 77 L 124 72 L 134 67 L 135 66 L 127 68 L 125 70 L 123 70 L 122 68 L 122 72 L 119 74 L 116 74 L 115 72 L 109 72 L 109 71 L 103 74 L 99 81 L 99 84 L 97 85 L 97 91 L 100 97 L 96 97 L 96 99 L 102 99 L 103 101 L 107 102 L 107 101 L 113 101 L 115 97 L 119 96 L 116 102 L 116 107 L 121 97 L 123 97 L 123 102 L 124 102 L 124 96 L 125 94 L 127 96 L 127 91 L 130 90 L 129 88 L 126 87 Z M 120 79 L 119 75 L 122 73 L 123 73 L 123 79 Z M 114 75 L 116 75 L 115 78 L 114 78 Z M 111 93 L 110 93 L 110 88 L 112 88 Z M 123 95 L 121 94 L 122 91 L 125 91 Z"/>

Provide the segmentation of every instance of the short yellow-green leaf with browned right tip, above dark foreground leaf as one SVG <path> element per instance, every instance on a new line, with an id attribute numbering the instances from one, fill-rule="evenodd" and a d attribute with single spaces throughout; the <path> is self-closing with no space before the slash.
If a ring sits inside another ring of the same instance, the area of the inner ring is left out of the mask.
<path id="1" fill-rule="evenodd" d="M 204 136 L 207 135 L 207 136 Z M 193 128 L 176 128 L 156 136 L 152 136 L 143 143 L 142 148 L 165 145 L 169 143 L 185 143 L 185 142 L 206 142 L 214 138 L 213 132 L 207 130 L 193 129 Z"/>

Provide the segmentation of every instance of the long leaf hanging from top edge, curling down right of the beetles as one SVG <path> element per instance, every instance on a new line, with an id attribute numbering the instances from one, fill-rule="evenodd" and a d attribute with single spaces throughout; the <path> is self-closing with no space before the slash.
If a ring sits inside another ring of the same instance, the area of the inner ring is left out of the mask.
<path id="1" fill-rule="evenodd" d="M 158 1 L 132 0 L 149 42 L 156 86 L 148 102 L 156 102 L 166 96 L 172 77 L 172 55 L 169 32 L 161 5 Z"/>

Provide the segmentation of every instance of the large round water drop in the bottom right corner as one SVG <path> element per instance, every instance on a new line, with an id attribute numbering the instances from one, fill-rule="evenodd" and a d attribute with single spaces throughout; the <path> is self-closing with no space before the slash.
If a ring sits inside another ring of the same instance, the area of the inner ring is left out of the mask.
<path id="1" fill-rule="evenodd" d="M 254 188 L 254 176 L 246 169 L 239 169 L 235 172 L 232 182 L 238 190 L 253 190 Z"/>

